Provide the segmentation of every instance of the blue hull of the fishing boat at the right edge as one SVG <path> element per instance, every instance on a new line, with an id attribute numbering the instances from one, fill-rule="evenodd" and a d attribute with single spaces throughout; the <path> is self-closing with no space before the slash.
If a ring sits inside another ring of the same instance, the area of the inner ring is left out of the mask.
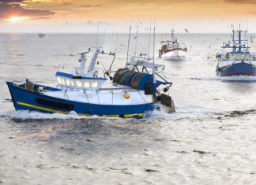
<path id="1" fill-rule="evenodd" d="M 256 76 L 256 67 L 254 65 L 241 62 L 228 67 L 217 68 L 216 74 L 218 76 Z"/>

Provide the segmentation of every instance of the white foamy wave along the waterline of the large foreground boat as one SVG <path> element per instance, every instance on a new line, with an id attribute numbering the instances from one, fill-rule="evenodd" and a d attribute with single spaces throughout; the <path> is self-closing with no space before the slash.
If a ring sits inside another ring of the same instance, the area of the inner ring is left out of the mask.
<path id="1" fill-rule="evenodd" d="M 248 110 L 232 110 L 227 112 L 220 112 L 215 109 L 205 109 L 195 107 L 193 105 L 186 105 L 176 109 L 175 113 L 167 113 L 163 106 L 160 109 L 155 109 L 145 114 L 145 117 L 140 120 L 180 120 L 180 119 L 197 119 L 203 117 L 243 117 L 249 114 L 256 113 L 256 109 Z M 134 118 L 119 118 L 119 117 L 99 117 L 93 116 L 79 116 L 75 112 L 70 114 L 61 113 L 39 113 L 29 112 L 28 110 L 9 110 L 0 112 L 0 117 L 6 117 L 13 120 L 134 120 Z"/>

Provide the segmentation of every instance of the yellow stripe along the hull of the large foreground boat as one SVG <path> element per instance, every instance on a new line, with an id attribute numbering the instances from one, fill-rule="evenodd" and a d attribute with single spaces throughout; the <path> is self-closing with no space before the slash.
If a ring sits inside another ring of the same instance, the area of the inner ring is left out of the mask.
<path id="1" fill-rule="evenodd" d="M 48 109 L 48 108 L 44 108 L 41 106 L 36 106 L 36 105 L 31 105 L 28 103 L 24 103 L 24 102 L 17 102 L 18 105 L 23 105 L 23 106 L 28 106 L 34 109 L 40 109 L 40 110 L 44 110 L 47 112 L 51 112 L 51 113 L 62 113 L 62 114 L 69 114 L 70 112 L 65 112 L 65 111 L 60 111 L 60 110 L 55 110 L 55 109 Z M 92 114 L 87 114 L 87 113 L 77 113 L 77 115 L 79 116 L 86 116 L 86 117 L 91 117 Z M 100 115 L 98 115 L 100 117 Z M 106 115 L 106 117 L 124 117 L 124 118 L 134 118 L 134 117 L 144 117 L 145 114 L 144 113 L 138 113 L 138 114 L 125 114 L 123 116 L 120 115 Z"/>

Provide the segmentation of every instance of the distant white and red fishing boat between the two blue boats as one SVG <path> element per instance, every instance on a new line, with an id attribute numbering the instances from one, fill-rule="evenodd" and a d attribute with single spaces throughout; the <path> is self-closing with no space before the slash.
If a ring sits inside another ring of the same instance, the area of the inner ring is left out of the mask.
<path id="1" fill-rule="evenodd" d="M 183 61 L 185 60 L 185 53 L 187 51 L 184 43 L 178 43 L 175 38 L 174 30 L 171 30 L 171 40 L 162 40 L 161 49 L 159 50 L 159 57 L 169 61 Z"/>

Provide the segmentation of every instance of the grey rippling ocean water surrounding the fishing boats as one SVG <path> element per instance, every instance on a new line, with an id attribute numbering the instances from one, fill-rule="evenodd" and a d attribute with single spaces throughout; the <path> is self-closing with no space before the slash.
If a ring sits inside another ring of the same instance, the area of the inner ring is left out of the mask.
<path id="1" fill-rule="evenodd" d="M 156 35 L 156 57 L 168 36 Z M 55 85 L 59 66 L 79 66 L 76 54 L 97 39 L 1 34 L 0 184 L 254 184 L 256 78 L 216 76 L 215 54 L 230 35 L 177 37 L 188 46 L 186 61 L 156 58 L 166 66 L 160 74 L 173 82 L 177 112 L 156 110 L 134 120 L 15 111 L 6 81 Z M 98 37 L 106 52 L 117 53 L 114 69 L 125 65 L 127 38 Z M 137 43 L 137 53 L 149 50 L 148 35 L 138 35 Z M 111 59 L 99 57 L 99 72 Z"/>

